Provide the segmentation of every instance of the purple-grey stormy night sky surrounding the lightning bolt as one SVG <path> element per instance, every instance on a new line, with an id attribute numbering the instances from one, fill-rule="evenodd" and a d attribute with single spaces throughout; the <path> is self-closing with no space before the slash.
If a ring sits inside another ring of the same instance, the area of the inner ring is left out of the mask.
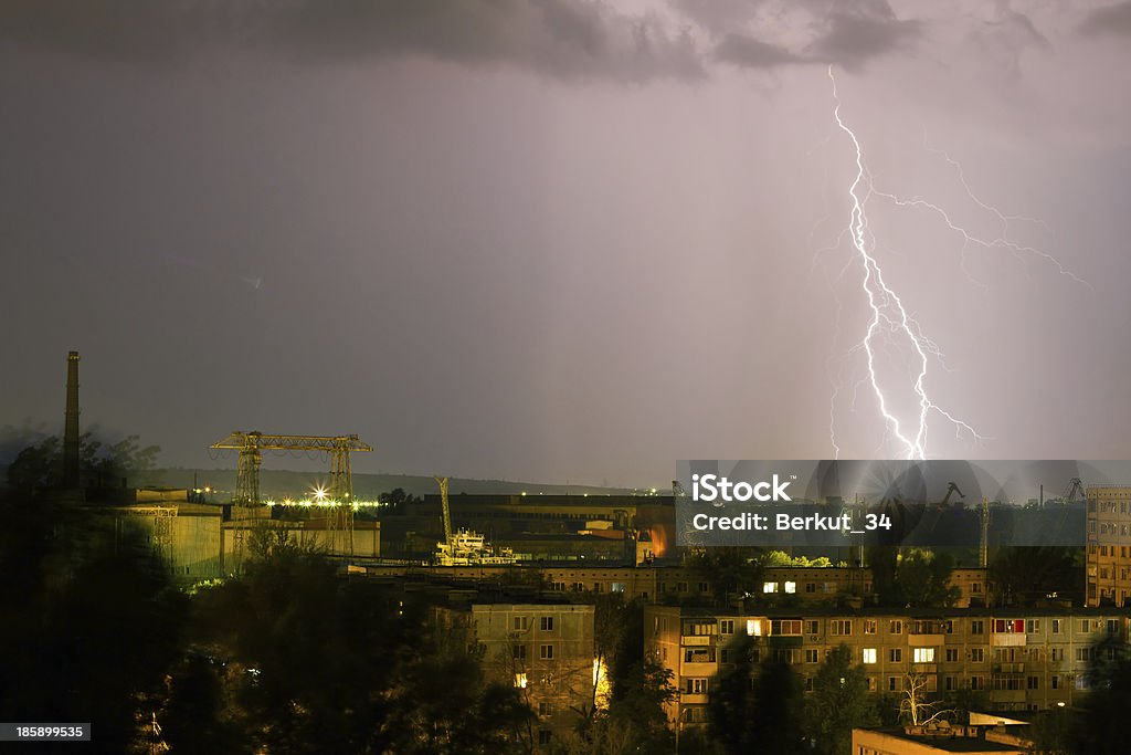
<path id="1" fill-rule="evenodd" d="M 0 427 L 61 431 L 78 349 L 84 424 L 171 465 L 896 454 L 830 66 L 875 191 L 1024 248 L 866 204 L 983 436 L 934 414 L 930 455 L 1126 457 L 1131 2 L 0 0 Z"/>

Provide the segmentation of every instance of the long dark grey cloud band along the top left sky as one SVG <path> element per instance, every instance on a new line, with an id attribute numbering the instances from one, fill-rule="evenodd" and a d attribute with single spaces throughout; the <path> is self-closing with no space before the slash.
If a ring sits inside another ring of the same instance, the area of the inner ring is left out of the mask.
<path id="1" fill-rule="evenodd" d="M 141 66 L 234 48 L 302 62 L 424 55 L 560 78 L 701 74 L 689 35 L 668 33 L 655 16 L 597 2 L 7 0 L 3 8 L 0 38 Z"/>

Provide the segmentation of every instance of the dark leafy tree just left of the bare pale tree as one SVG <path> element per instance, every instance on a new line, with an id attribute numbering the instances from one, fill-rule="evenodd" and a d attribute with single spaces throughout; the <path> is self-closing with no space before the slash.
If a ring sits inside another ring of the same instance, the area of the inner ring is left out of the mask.
<path id="1" fill-rule="evenodd" d="M 848 753 L 854 727 L 879 724 L 867 675 L 863 666 L 853 666 L 847 645 L 834 649 L 817 669 L 805 707 L 805 729 L 817 753 Z"/>

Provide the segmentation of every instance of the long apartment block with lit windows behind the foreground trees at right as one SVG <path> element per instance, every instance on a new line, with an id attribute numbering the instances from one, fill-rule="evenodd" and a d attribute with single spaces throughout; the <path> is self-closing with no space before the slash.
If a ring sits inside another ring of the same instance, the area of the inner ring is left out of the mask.
<path id="1" fill-rule="evenodd" d="M 1093 643 L 1128 638 L 1128 617 L 1114 610 L 1073 612 L 991 609 L 766 611 L 737 615 L 682 607 L 645 608 L 645 644 L 672 671 L 679 696 L 668 718 L 706 721 L 715 677 L 734 659 L 735 638 L 756 640 L 797 671 L 804 688 L 838 645 L 862 664 L 869 688 L 903 693 L 913 679 L 931 693 L 983 690 L 994 710 L 1043 710 L 1087 689 Z"/>

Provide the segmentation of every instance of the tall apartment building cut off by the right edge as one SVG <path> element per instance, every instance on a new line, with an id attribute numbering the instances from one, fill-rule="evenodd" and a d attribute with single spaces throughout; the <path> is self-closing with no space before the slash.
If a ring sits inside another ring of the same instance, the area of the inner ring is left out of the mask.
<path id="1" fill-rule="evenodd" d="M 1095 486 L 1088 498 L 1087 606 L 1131 604 L 1131 488 Z"/>

